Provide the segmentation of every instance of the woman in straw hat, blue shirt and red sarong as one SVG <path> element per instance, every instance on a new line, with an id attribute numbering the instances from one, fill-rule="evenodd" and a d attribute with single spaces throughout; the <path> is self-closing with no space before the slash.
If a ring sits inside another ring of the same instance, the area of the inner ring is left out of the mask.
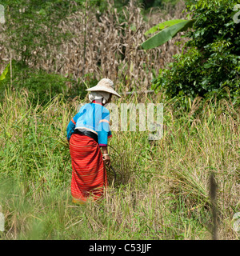
<path id="1" fill-rule="evenodd" d="M 97 86 L 87 89 L 90 103 L 82 106 L 67 126 L 73 169 L 73 202 L 84 203 L 90 196 L 97 200 L 107 186 L 104 163 L 110 166 L 107 141 L 112 135 L 110 112 L 104 105 L 110 102 L 112 95 L 121 98 L 113 86 L 110 79 L 103 78 Z"/>

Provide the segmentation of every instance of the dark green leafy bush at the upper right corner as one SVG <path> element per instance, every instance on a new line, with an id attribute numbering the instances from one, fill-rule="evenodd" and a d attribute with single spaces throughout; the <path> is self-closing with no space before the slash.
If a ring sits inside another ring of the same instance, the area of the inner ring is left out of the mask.
<path id="1" fill-rule="evenodd" d="M 234 23 L 234 0 L 188 1 L 187 11 L 195 19 L 194 30 L 186 34 L 182 54 L 161 69 L 153 88 L 166 90 L 170 98 L 186 95 L 222 98 L 228 87 L 236 98 L 240 92 L 240 30 Z"/>

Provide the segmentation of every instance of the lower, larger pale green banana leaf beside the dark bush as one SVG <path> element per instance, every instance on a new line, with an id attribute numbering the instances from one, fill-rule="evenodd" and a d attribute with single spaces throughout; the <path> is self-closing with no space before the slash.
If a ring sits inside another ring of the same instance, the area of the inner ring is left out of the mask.
<path id="1" fill-rule="evenodd" d="M 169 22 L 170 24 L 170 22 Z M 188 28 L 192 27 L 194 20 L 182 20 L 172 26 L 167 26 L 158 34 L 155 34 L 153 37 L 147 39 L 145 42 L 142 42 L 141 46 L 144 50 L 153 49 L 158 46 L 162 46 L 165 42 L 169 41 L 171 38 L 174 38 L 176 34 L 182 31 L 186 31 Z M 159 26 L 159 24 L 158 24 Z"/>

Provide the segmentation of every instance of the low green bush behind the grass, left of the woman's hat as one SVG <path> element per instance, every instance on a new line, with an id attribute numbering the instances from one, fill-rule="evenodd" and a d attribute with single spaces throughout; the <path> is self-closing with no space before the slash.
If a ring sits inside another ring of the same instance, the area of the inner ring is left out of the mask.
<path id="1" fill-rule="evenodd" d="M 59 74 L 49 74 L 45 70 L 37 70 L 29 66 L 23 66 L 19 62 L 12 62 L 12 78 L 10 71 L 6 74 L 6 78 L 0 81 L 0 95 L 4 90 L 26 89 L 30 92 L 30 101 L 35 105 L 38 103 L 46 104 L 51 98 L 58 94 L 66 97 L 80 96 L 85 97 L 86 87 L 80 82 L 71 78 L 65 78 Z"/>

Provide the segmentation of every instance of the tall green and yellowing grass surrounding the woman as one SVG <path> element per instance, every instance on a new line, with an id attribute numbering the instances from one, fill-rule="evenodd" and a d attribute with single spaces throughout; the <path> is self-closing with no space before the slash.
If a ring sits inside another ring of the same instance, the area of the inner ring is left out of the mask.
<path id="1" fill-rule="evenodd" d="M 6 92 L 0 104 L 1 239 L 210 239 L 209 180 L 218 184 L 218 238 L 238 239 L 240 211 L 239 109 L 230 100 L 195 99 L 185 108 L 162 96 L 164 134 L 114 132 L 110 141 L 117 181 L 100 203 L 75 206 L 70 196 L 66 126 L 78 100 L 61 95 L 33 106 L 27 91 Z M 121 102 L 138 102 L 123 98 Z M 117 104 L 120 104 L 118 102 Z"/>

